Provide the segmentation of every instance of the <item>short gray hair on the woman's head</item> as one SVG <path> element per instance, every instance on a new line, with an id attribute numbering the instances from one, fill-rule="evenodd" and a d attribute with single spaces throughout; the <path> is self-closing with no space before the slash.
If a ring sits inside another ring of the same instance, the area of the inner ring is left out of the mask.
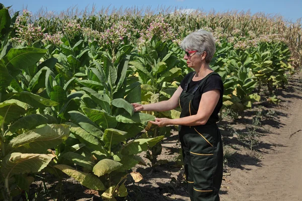
<path id="1" fill-rule="evenodd" d="M 183 50 L 197 50 L 199 54 L 206 52 L 205 62 L 209 63 L 214 56 L 216 47 L 215 39 L 211 32 L 199 29 L 192 32 L 182 41 L 180 47 Z"/>

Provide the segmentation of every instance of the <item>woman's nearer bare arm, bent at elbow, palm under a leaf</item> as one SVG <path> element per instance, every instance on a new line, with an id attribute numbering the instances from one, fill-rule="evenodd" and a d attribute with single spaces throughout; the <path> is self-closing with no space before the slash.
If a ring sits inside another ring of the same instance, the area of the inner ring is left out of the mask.
<path id="1" fill-rule="evenodd" d="M 214 89 L 202 94 L 198 112 L 196 115 L 183 117 L 179 119 L 156 118 L 156 121 L 150 121 L 160 127 L 167 125 L 197 126 L 204 125 L 213 113 L 220 97 L 220 90 Z"/>

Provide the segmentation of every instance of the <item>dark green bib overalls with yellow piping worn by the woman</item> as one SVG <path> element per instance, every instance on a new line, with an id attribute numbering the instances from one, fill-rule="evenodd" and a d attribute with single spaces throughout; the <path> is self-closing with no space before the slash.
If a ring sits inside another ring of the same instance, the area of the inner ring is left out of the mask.
<path id="1" fill-rule="evenodd" d="M 197 114 L 192 107 L 193 96 L 199 87 L 204 87 L 207 78 L 214 74 L 217 73 L 212 72 L 204 77 L 192 92 L 188 92 L 188 85 L 195 73 L 189 78 L 179 97 L 179 105 L 182 109 L 181 118 Z M 219 200 L 223 150 L 216 121 L 209 119 L 205 125 L 179 126 L 179 138 L 190 199 L 194 201 Z"/>

